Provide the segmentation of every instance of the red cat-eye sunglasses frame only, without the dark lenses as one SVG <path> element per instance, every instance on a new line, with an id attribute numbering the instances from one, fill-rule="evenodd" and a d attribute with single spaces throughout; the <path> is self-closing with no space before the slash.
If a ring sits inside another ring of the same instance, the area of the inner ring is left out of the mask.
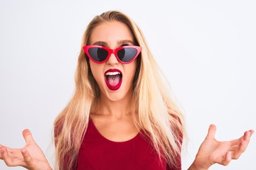
<path id="1" fill-rule="evenodd" d="M 87 55 L 87 57 L 89 57 L 90 60 L 92 60 L 92 62 L 95 62 L 95 63 L 97 63 L 97 64 L 102 64 L 103 62 L 106 62 L 106 61 L 110 58 L 110 56 L 111 56 L 112 54 L 114 54 L 114 56 L 117 58 L 117 60 L 118 60 L 119 62 L 121 62 L 122 64 L 129 64 L 130 62 L 133 62 L 133 61 L 138 57 L 139 53 L 142 51 L 142 47 L 139 47 L 139 46 L 137 46 L 137 45 L 126 45 L 126 46 L 122 46 L 122 47 L 117 47 L 116 49 L 110 49 L 110 48 L 105 47 L 105 46 L 102 46 L 102 45 L 85 45 L 85 46 L 83 46 L 82 48 L 83 48 L 83 50 L 85 51 L 85 54 Z M 89 50 L 90 48 L 102 48 L 103 50 L 106 50 L 106 51 L 108 52 L 108 55 L 107 55 L 106 59 L 103 60 L 102 62 L 97 62 L 97 61 L 93 60 L 93 58 L 90 56 L 90 54 L 89 54 L 89 52 L 88 52 L 88 50 Z M 124 48 L 134 48 L 134 49 L 137 50 L 136 55 L 135 55 L 134 58 L 133 58 L 131 61 L 129 61 L 129 62 L 122 62 L 122 61 L 119 59 L 119 57 L 117 56 L 117 52 L 118 52 L 119 50 L 124 49 Z"/>

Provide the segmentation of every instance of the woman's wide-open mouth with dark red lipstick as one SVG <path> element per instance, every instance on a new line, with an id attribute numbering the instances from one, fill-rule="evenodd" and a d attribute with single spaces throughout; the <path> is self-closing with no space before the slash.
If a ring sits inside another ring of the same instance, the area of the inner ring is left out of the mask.
<path id="1" fill-rule="evenodd" d="M 105 82 L 110 90 L 118 90 L 122 84 L 122 72 L 119 69 L 108 69 L 105 72 Z"/>

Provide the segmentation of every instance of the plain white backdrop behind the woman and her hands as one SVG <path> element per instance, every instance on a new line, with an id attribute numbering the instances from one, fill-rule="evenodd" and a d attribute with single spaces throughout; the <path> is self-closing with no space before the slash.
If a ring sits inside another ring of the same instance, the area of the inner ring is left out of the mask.
<path id="1" fill-rule="evenodd" d="M 217 140 L 256 130 L 256 1 L 0 0 L 0 144 L 23 147 L 29 128 L 53 163 L 53 121 L 74 90 L 87 23 L 107 10 L 142 28 L 186 115 L 193 162 L 208 125 Z M 210 169 L 255 170 L 256 136 L 239 160 Z M 0 169 L 9 169 L 0 161 Z M 23 169 L 16 167 L 13 169 Z"/>

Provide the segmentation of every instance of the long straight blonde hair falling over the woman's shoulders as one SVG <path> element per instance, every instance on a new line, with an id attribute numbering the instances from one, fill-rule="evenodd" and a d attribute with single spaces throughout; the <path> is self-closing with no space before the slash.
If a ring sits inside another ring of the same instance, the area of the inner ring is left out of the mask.
<path id="1" fill-rule="evenodd" d="M 72 169 L 78 159 L 82 139 L 87 130 L 90 112 L 96 108 L 100 89 L 90 71 L 88 57 L 82 50 L 90 41 L 92 30 L 102 23 L 119 21 L 126 24 L 134 40 L 142 47 L 134 77 L 133 100 L 137 128 L 149 137 L 159 157 L 178 166 L 181 160 L 182 137 L 185 135 L 183 115 L 171 96 L 169 83 L 156 64 L 142 30 L 124 13 L 107 11 L 96 16 L 87 26 L 82 38 L 78 67 L 75 74 L 75 92 L 68 105 L 55 119 L 56 169 Z M 68 163 L 67 163 L 68 162 Z"/>

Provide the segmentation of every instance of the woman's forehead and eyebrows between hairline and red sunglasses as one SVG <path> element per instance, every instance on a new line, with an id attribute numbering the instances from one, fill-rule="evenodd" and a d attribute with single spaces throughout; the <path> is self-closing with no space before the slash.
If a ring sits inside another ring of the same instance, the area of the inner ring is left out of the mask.
<path id="1" fill-rule="evenodd" d="M 96 26 L 90 35 L 90 44 L 106 42 L 108 45 L 116 45 L 122 40 L 134 41 L 131 30 L 127 25 L 118 21 L 108 21 Z"/>

